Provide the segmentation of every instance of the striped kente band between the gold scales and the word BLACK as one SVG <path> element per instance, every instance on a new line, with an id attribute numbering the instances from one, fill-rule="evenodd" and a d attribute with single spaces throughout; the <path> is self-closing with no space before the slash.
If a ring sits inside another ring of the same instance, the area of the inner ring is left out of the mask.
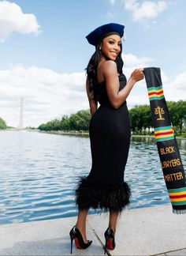
<path id="1" fill-rule="evenodd" d="M 154 136 L 156 141 L 173 140 L 173 126 L 164 126 L 154 128 Z"/>

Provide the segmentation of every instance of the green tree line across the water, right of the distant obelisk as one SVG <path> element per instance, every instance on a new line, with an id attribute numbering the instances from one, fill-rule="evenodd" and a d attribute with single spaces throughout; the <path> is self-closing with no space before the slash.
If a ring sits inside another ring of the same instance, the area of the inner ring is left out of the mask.
<path id="1" fill-rule="evenodd" d="M 179 100 L 167 101 L 170 119 L 173 123 L 175 133 L 182 134 L 186 132 L 186 101 Z M 129 110 L 132 133 L 133 134 L 151 134 L 152 119 L 151 108 L 149 105 L 136 105 Z M 88 131 L 91 114 L 89 110 L 81 110 L 76 114 L 64 115 L 61 119 L 54 119 L 41 124 L 39 130 L 63 130 L 69 131 Z"/>

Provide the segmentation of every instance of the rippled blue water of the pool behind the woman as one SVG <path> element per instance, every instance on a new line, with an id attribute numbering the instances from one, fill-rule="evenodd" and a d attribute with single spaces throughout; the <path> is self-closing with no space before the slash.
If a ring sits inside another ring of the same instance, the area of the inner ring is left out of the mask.
<path id="1" fill-rule="evenodd" d="M 0 141 L 0 224 L 76 216 L 76 179 L 91 168 L 88 137 L 1 131 Z M 186 140 L 178 146 L 185 165 Z M 151 138 L 132 140 L 125 181 L 130 208 L 169 203 Z"/>

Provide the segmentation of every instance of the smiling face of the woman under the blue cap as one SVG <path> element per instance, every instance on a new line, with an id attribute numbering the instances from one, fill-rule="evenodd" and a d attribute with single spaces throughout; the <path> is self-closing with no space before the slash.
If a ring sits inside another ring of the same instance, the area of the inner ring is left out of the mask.
<path id="1" fill-rule="evenodd" d="M 100 45 L 102 57 L 116 60 L 117 55 L 121 52 L 121 37 L 118 35 L 106 36 Z"/>

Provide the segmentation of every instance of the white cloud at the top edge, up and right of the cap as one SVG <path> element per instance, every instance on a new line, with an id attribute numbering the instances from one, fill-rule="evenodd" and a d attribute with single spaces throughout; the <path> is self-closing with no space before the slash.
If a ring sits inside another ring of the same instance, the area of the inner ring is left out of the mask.
<path id="1" fill-rule="evenodd" d="M 159 13 L 162 13 L 168 8 L 166 1 L 160 0 L 158 2 L 138 0 L 125 0 L 125 9 L 132 12 L 132 18 L 134 21 L 144 21 L 147 19 L 153 19 L 157 17 Z"/>

